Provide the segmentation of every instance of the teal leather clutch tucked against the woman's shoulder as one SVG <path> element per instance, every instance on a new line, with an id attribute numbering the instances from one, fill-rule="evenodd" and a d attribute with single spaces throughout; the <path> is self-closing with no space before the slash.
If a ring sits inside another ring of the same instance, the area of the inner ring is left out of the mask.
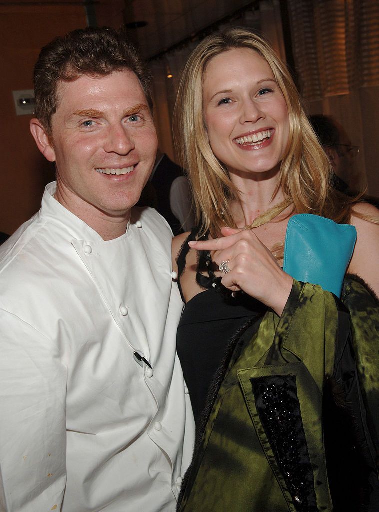
<path id="1" fill-rule="evenodd" d="M 283 270 L 341 297 L 355 242 L 354 226 L 317 215 L 294 215 L 288 222 Z"/>

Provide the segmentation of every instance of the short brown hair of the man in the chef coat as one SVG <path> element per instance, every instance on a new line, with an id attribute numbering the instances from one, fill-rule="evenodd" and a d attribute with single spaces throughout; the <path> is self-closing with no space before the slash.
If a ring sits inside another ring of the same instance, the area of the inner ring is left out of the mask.
<path id="1" fill-rule="evenodd" d="M 36 117 L 51 135 L 60 80 L 73 81 L 81 75 L 105 76 L 124 69 L 135 73 L 153 111 L 150 72 L 123 30 L 88 27 L 57 37 L 41 50 L 34 67 Z"/>

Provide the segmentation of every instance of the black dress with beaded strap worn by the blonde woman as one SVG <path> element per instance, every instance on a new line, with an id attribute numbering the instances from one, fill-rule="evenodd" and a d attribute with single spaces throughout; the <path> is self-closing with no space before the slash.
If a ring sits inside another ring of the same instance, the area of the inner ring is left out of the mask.
<path id="1" fill-rule="evenodd" d="M 181 293 L 180 276 L 185 269 L 188 242 L 195 239 L 194 230 L 178 255 Z M 198 425 L 210 384 L 224 359 L 226 348 L 240 329 L 254 319 L 262 318 L 267 307 L 242 292 L 231 294 L 222 286 L 221 279 L 213 274 L 209 252 L 199 252 L 196 280 L 206 291 L 195 295 L 184 308 L 177 333 L 177 352 Z"/>

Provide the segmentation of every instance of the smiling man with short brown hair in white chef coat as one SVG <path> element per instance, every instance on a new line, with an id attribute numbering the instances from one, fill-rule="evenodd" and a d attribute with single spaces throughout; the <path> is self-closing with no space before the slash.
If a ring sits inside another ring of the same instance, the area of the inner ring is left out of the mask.
<path id="1" fill-rule="evenodd" d="M 57 182 L 0 250 L 0 510 L 174 510 L 194 427 L 172 233 L 131 209 L 157 149 L 149 80 L 120 33 L 86 29 L 34 82 Z"/>

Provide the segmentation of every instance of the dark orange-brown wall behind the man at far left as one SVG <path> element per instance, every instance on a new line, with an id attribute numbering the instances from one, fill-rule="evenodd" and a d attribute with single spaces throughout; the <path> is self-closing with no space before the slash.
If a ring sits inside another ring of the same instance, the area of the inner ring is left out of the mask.
<path id="1" fill-rule="evenodd" d="M 43 46 L 86 26 L 83 6 L 0 6 L 0 231 L 12 234 L 34 215 L 45 185 L 54 180 L 54 167 L 29 132 L 32 116 L 16 116 L 12 91 L 33 89 L 33 67 Z"/>

